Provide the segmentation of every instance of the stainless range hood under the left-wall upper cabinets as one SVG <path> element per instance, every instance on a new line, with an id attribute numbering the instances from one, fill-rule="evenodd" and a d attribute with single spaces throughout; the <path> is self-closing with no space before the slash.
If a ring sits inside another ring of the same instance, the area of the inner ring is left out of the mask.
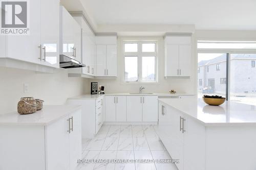
<path id="1" fill-rule="evenodd" d="M 82 64 L 81 62 L 74 60 L 65 55 L 59 55 L 59 67 L 61 68 L 78 68 L 78 67 L 85 67 L 86 65 Z"/>

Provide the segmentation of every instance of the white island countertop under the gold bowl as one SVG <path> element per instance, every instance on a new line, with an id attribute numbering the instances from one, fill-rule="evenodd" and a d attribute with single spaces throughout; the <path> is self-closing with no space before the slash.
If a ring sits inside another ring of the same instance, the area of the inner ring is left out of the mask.
<path id="1" fill-rule="evenodd" d="M 210 106 L 196 98 L 158 100 L 199 120 L 205 126 L 256 125 L 256 106 L 227 101 L 220 106 Z"/>

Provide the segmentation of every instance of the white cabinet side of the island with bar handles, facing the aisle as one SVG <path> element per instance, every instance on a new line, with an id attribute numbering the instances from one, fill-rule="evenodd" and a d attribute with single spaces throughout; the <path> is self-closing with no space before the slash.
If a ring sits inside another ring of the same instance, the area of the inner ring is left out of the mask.
<path id="1" fill-rule="evenodd" d="M 155 129 L 172 159 L 179 159 L 179 170 L 205 169 L 205 128 L 201 124 L 159 102 L 159 125 Z"/>

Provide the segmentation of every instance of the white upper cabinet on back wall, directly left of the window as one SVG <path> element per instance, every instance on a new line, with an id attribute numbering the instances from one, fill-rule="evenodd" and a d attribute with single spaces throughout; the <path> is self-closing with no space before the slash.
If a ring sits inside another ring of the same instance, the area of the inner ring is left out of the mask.
<path id="1" fill-rule="evenodd" d="M 116 36 L 96 36 L 96 67 L 99 77 L 117 76 Z"/>

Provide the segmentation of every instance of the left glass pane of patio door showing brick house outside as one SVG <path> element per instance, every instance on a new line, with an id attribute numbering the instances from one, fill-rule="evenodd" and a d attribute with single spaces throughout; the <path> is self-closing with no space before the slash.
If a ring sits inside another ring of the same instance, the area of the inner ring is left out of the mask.
<path id="1" fill-rule="evenodd" d="M 203 95 L 226 97 L 227 54 L 198 54 L 198 98 Z"/>

